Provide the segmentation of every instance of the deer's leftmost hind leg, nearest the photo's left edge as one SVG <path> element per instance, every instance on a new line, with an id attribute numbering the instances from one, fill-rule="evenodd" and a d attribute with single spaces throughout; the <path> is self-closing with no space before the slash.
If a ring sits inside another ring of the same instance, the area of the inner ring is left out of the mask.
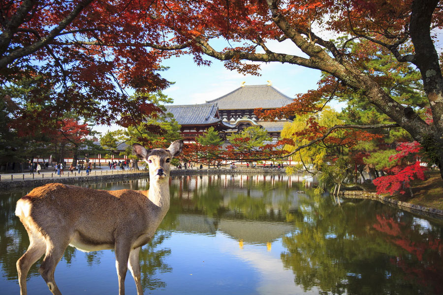
<path id="1" fill-rule="evenodd" d="M 45 254 L 46 243 L 42 236 L 29 235 L 28 250 L 17 260 L 17 273 L 20 285 L 20 294 L 27 295 L 26 277 L 31 266 Z"/>

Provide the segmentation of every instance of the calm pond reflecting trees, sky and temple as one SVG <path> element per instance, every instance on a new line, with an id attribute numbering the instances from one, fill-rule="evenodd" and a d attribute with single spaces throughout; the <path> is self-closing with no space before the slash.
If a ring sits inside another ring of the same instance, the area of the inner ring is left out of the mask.
<path id="1" fill-rule="evenodd" d="M 140 253 L 145 294 L 443 294 L 443 222 L 370 200 L 316 194 L 302 177 L 183 176 Z M 83 184 L 147 189 L 147 179 Z M 19 294 L 15 263 L 29 245 L 14 215 L 30 189 L 0 193 L 0 293 Z M 112 216 L 110 216 L 112 218 Z M 30 295 L 50 294 L 37 262 Z M 63 295 L 118 294 L 113 251 L 68 247 Z M 136 294 L 128 273 L 127 294 Z"/>

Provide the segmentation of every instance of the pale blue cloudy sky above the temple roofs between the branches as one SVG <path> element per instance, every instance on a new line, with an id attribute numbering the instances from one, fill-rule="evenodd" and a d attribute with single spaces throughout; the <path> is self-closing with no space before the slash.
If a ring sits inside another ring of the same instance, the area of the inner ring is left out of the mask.
<path id="1" fill-rule="evenodd" d="M 218 50 L 225 46 L 217 40 L 212 45 Z M 284 42 L 270 41 L 266 45 L 275 52 L 306 57 L 288 40 Z M 245 76 L 236 71 L 227 70 L 220 60 L 210 57 L 206 57 L 206 59 L 212 61 L 210 66 L 197 66 L 190 55 L 173 57 L 162 63 L 169 69 L 161 72 L 161 76 L 168 81 L 175 82 L 168 89 L 163 90 L 164 94 L 174 100 L 174 105 L 205 103 L 239 88 L 243 82 L 245 85 L 266 85 L 270 81 L 272 87 L 294 98 L 296 94 L 316 89 L 320 79 L 319 70 L 293 64 L 261 63 L 260 76 Z M 340 110 L 344 105 L 333 103 L 331 106 Z M 117 125 L 96 125 L 94 130 L 105 133 L 107 130 L 119 128 L 121 127 Z"/>

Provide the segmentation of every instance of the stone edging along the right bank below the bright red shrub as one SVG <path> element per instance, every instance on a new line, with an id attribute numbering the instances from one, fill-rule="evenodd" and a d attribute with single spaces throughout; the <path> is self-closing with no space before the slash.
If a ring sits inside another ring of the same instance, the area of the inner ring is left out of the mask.
<path id="1" fill-rule="evenodd" d="M 377 193 L 364 192 L 364 191 L 345 191 L 343 193 L 343 196 L 345 198 L 352 198 L 352 199 L 371 199 L 371 200 L 380 201 L 381 203 L 385 203 L 385 204 L 393 204 L 393 205 L 402 207 L 402 209 L 406 208 L 407 210 L 410 210 L 412 212 L 413 211 L 421 211 L 421 212 L 426 212 L 426 213 L 430 213 L 430 214 L 436 214 L 436 215 L 443 216 L 443 210 L 436 209 L 436 208 L 423 207 L 423 206 L 411 204 L 408 202 L 398 201 L 395 199 L 384 197 L 384 196 L 377 194 Z"/>

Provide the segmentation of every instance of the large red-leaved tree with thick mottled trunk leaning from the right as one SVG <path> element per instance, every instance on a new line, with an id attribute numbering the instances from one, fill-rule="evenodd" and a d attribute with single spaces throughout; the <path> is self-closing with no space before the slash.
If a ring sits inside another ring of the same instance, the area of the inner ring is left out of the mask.
<path id="1" fill-rule="evenodd" d="M 438 150 L 434 160 L 443 177 L 443 77 L 432 34 L 433 29 L 442 27 L 438 0 L 216 0 L 195 1 L 190 6 L 178 1 L 168 3 L 174 9 L 163 10 L 162 16 L 170 21 L 168 31 L 174 35 L 169 46 L 190 43 L 188 48 L 198 63 L 208 63 L 204 60 L 207 55 L 241 73 L 257 73 L 260 64 L 250 61 L 290 63 L 326 72 L 334 78 L 329 87 L 338 83 L 352 89 L 359 99 L 368 101 L 390 119 L 387 124 L 345 124 L 335 128 L 400 126 L 425 150 Z M 367 57 L 364 51 L 339 47 L 336 42 L 322 38 L 317 28 L 346 34 L 349 41 L 365 42 L 368 47 L 389 54 L 399 64 L 417 67 L 426 104 L 396 101 L 383 89 L 377 75 L 359 65 L 358 60 Z M 211 46 L 220 38 L 228 40 L 231 46 L 224 49 Z M 278 47 L 273 50 L 269 42 L 275 40 L 290 42 L 303 54 L 281 53 Z M 292 112 L 286 115 L 316 103 L 309 93 L 301 95 L 291 106 Z M 417 114 L 423 107 L 430 109 L 432 122 L 427 123 Z M 283 112 L 265 113 L 270 118 L 276 114 Z"/>

